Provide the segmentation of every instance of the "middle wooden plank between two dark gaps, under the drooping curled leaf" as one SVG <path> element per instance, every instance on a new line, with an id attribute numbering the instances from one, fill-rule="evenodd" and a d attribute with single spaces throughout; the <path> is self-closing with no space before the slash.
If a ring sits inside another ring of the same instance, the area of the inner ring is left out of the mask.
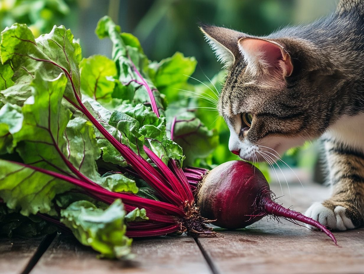
<path id="1" fill-rule="evenodd" d="M 210 273 L 201 251 L 191 237 L 138 239 L 133 243 L 134 260 L 97 259 L 91 248 L 72 235 L 58 235 L 31 274 L 58 273 Z"/>

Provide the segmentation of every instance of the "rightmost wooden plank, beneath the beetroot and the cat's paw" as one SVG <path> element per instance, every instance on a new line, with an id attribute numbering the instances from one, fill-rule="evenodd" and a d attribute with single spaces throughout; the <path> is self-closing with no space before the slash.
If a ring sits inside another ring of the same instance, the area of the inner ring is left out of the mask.
<path id="1" fill-rule="evenodd" d="M 328 196 L 323 186 L 304 186 L 290 186 L 292 203 L 286 196 L 285 206 L 304 211 Z M 288 194 L 287 188 L 284 192 Z M 217 273 L 364 273 L 364 229 L 334 233 L 339 245 L 335 246 L 323 233 L 282 222 L 264 218 L 247 229 L 224 231 L 222 238 L 198 242 Z"/>

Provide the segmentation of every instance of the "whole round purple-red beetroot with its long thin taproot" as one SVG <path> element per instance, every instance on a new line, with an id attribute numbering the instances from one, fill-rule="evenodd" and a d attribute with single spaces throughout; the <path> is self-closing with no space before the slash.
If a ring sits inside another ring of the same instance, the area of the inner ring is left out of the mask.
<path id="1" fill-rule="evenodd" d="M 187 176 L 189 178 L 189 176 Z M 274 202 L 264 175 L 244 161 L 230 161 L 203 176 L 197 186 L 200 214 L 213 224 L 238 229 L 266 215 L 300 221 L 324 231 L 335 243 L 334 235 L 319 222 Z"/>

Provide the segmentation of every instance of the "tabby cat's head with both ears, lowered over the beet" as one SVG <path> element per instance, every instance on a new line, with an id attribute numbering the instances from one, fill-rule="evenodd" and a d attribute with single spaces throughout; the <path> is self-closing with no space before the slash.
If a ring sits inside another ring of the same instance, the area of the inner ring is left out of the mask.
<path id="1" fill-rule="evenodd" d="M 210 25 L 201 30 L 227 68 L 218 110 L 230 128 L 233 153 L 245 160 L 270 161 L 272 154 L 327 129 L 332 102 L 325 95 L 325 79 L 331 71 L 325 75 L 314 46 Z"/>

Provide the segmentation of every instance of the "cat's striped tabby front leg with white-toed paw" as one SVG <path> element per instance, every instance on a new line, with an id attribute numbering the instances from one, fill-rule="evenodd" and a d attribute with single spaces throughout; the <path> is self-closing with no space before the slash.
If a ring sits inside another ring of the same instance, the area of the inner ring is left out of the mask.
<path id="1" fill-rule="evenodd" d="M 332 195 L 324 202 L 313 203 L 305 215 L 335 230 L 362 226 L 364 154 L 332 138 L 324 143 Z"/>

